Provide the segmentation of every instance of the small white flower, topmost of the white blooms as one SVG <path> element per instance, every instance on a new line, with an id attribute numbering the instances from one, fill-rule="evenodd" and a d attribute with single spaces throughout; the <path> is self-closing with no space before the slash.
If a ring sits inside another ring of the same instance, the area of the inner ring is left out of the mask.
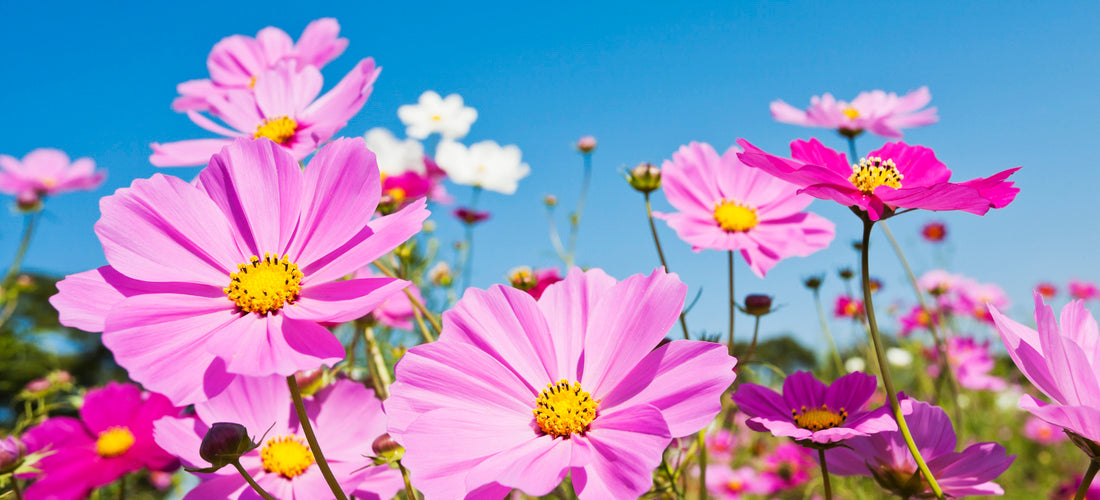
<path id="1" fill-rule="evenodd" d="M 433 132 L 444 140 L 462 138 L 477 120 L 477 110 L 462 105 L 458 93 L 441 98 L 428 90 L 416 104 L 397 108 L 397 118 L 406 126 L 405 134 L 413 138 L 428 138 Z"/>

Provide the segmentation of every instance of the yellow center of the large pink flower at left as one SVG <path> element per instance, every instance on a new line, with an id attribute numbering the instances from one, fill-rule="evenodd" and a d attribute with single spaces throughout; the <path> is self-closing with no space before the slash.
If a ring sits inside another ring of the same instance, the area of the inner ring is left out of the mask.
<path id="1" fill-rule="evenodd" d="M 237 266 L 229 275 L 231 281 L 222 291 L 244 312 L 267 314 L 283 304 L 294 303 L 301 291 L 301 271 L 286 255 L 264 254 L 261 259 L 252 256 L 248 264 Z"/>

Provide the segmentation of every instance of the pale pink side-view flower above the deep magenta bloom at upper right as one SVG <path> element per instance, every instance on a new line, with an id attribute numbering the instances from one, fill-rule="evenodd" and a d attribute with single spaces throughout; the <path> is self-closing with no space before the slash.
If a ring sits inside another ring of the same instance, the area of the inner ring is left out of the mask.
<path id="1" fill-rule="evenodd" d="M 859 92 L 851 102 L 838 101 L 832 93 L 810 99 L 805 111 L 782 100 L 771 102 L 771 116 L 776 121 L 802 126 L 834 129 L 842 135 L 855 137 L 865 130 L 883 137 L 900 138 L 902 129 L 923 126 L 939 121 L 935 108 L 922 110 L 932 101 L 927 87 L 905 96 L 882 90 Z"/>

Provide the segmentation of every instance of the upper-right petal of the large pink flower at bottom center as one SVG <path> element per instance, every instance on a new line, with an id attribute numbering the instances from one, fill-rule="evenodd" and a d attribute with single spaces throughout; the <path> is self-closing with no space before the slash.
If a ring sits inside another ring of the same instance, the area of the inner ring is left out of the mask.
<path id="1" fill-rule="evenodd" d="M 609 392 L 664 337 L 686 292 L 688 286 L 663 268 L 631 276 L 607 291 L 584 332 L 581 382 L 593 398 Z"/>

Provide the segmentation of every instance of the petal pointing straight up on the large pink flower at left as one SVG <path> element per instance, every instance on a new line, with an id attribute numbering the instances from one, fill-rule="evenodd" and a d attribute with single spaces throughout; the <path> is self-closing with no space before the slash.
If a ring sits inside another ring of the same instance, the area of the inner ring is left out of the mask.
<path id="1" fill-rule="evenodd" d="M 241 251 L 261 258 L 286 252 L 298 224 L 301 186 L 298 163 L 267 138 L 233 141 L 198 178 L 198 188 L 230 221 Z"/>

